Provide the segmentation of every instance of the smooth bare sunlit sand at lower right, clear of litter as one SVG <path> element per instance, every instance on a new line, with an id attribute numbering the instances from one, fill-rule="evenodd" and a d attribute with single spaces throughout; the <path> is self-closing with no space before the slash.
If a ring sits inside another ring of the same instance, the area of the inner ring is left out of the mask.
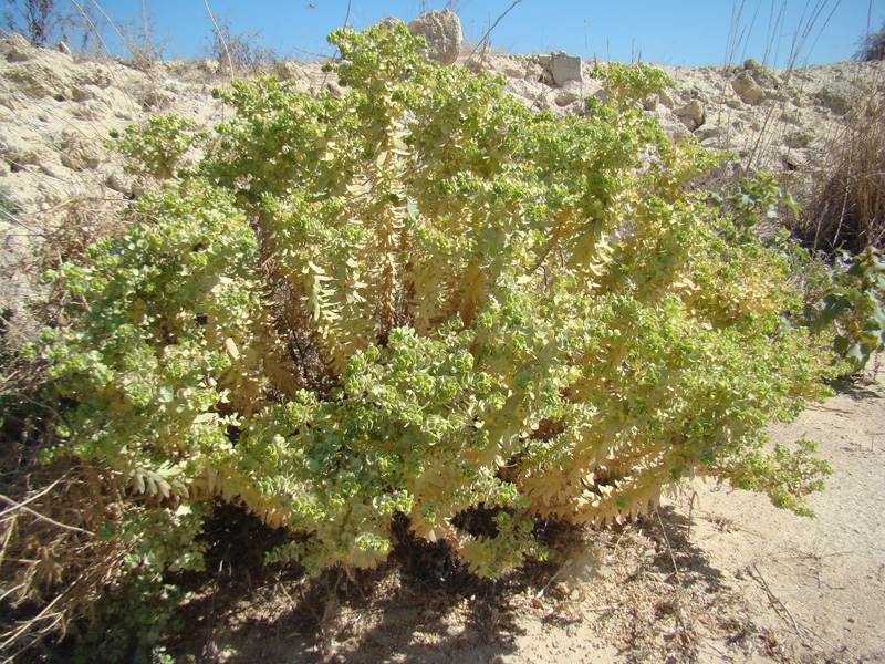
<path id="1" fill-rule="evenodd" d="M 810 661 L 885 662 L 884 373 L 771 427 L 775 442 L 815 440 L 833 467 L 827 489 L 809 501 L 816 519 L 706 487 L 695 510 L 693 541 L 710 564 L 733 580 L 760 625 L 784 630 L 792 652 Z"/>

